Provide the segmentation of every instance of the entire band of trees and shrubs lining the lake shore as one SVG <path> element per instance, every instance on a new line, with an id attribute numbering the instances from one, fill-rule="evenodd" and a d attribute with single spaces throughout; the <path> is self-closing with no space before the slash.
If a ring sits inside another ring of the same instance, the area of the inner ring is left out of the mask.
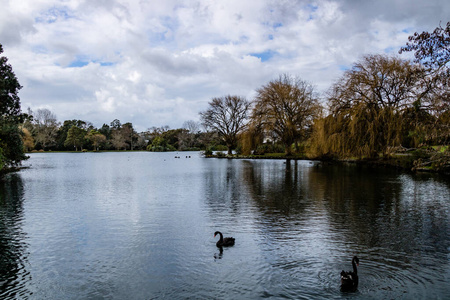
<path id="1" fill-rule="evenodd" d="M 290 74 L 241 96 L 213 98 L 201 122 L 136 132 L 113 120 L 95 128 L 62 124 L 48 109 L 20 110 L 21 86 L 1 57 L 0 169 L 20 165 L 24 152 L 214 150 L 216 156 L 370 160 L 426 170 L 450 169 L 450 22 L 416 33 L 399 53 L 414 60 L 366 55 L 319 95 Z M 0 53 L 2 48 L 0 45 Z M 234 154 L 233 154 L 234 153 Z"/>

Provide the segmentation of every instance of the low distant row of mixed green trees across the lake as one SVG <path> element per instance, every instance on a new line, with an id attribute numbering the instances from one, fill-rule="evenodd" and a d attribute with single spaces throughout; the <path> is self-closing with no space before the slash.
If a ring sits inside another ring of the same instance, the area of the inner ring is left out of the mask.
<path id="1" fill-rule="evenodd" d="M 148 150 L 185 151 L 206 147 L 224 149 L 217 133 L 201 132 L 200 124 L 187 121 L 184 128 L 168 126 L 136 132 L 132 123 L 113 120 L 96 128 L 83 120 L 66 120 L 62 124 L 48 109 L 36 112 L 28 109 L 27 119 L 21 125 L 23 144 L 30 151 L 86 151 L 86 150 Z"/>

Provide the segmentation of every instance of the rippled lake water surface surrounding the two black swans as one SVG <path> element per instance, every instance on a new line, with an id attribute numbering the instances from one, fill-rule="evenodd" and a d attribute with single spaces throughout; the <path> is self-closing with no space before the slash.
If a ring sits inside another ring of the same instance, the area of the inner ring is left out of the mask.
<path id="1" fill-rule="evenodd" d="M 197 152 L 25 165 L 0 182 L 0 299 L 450 298 L 448 176 Z"/>

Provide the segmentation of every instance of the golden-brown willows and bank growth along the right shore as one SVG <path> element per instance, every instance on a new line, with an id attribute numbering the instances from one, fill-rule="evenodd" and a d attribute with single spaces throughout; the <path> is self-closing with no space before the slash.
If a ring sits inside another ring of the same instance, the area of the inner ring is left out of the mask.
<path id="1" fill-rule="evenodd" d="M 399 52 L 414 52 L 415 59 L 366 55 L 337 79 L 322 105 L 299 78 L 284 74 L 264 85 L 245 130 L 236 132 L 238 154 L 261 157 L 283 148 L 285 157 L 448 171 L 450 22 L 414 34 Z"/>

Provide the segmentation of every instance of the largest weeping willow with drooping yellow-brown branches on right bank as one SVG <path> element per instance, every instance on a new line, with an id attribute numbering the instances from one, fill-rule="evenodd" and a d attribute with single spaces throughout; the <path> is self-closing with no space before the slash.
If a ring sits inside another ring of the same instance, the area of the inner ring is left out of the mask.
<path id="1" fill-rule="evenodd" d="M 356 63 L 329 92 L 330 114 L 316 121 L 315 156 L 388 155 L 402 143 L 410 120 L 405 111 L 420 103 L 422 68 L 397 57 L 369 55 Z"/>

